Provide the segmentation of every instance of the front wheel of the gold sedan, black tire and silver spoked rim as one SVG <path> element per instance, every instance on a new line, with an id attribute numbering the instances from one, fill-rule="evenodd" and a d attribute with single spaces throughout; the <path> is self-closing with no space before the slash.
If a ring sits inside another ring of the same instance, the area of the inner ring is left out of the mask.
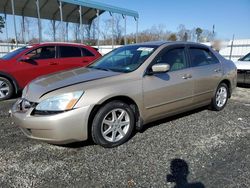
<path id="1" fill-rule="evenodd" d="M 99 109 L 92 123 L 92 139 L 103 147 L 116 147 L 126 142 L 135 124 L 134 112 L 121 101 L 112 101 Z"/>

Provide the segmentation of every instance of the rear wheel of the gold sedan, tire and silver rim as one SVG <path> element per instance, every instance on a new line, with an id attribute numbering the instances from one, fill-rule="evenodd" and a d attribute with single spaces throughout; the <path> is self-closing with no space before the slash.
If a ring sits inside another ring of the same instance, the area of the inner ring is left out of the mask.
<path id="1" fill-rule="evenodd" d="M 211 106 L 212 110 L 215 110 L 215 111 L 222 110 L 227 104 L 228 97 L 229 97 L 228 86 L 225 83 L 221 83 L 218 86 L 218 88 L 214 94 L 214 97 L 211 101 L 210 106 Z"/>

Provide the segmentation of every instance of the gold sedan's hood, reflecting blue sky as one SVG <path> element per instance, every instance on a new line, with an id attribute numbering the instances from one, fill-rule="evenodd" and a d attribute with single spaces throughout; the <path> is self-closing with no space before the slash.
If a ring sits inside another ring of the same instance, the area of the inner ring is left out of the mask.
<path id="1" fill-rule="evenodd" d="M 90 68 L 79 68 L 39 77 L 23 90 L 22 98 L 38 101 L 41 96 L 51 91 L 75 84 L 120 75 L 122 73 L 103 71 Z"/>

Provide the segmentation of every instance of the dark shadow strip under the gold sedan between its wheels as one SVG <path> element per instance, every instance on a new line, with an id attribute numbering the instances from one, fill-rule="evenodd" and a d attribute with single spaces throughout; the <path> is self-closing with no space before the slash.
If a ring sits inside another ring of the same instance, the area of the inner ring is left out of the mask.
<path id="1" fill-rule="evenodd" d="M 177 114 L 177 115 L 174 115 L 174 116 L 170 116 L 170 117 L 163 118 L 163 119 L 160 119 L 160 120 L 157 120 L 157 121 L 153 121 L 151 123 L 143 125 L 142 129 L 139 132 L 143 133 L 149 128 L 152 128 L 152 127 L 158 126 L 160 124 L 167 123 L 167 122 L 170 122 L 170 121 L 173 121 L 173 120 L 185 117 L 185 116 L 189 116 L 189 115 L 192 115 L 192 114 L 195 114 L 195 113 L 199 113 L 199 112 L 201 112 L 203 110 L 207 110 L 207 109 L 208 109 L 208 106 L 203 106 L 203 107 L 191 110 L 191 111 L 183 112 L 183 113 L 180 113 L 180 114 Z"/>

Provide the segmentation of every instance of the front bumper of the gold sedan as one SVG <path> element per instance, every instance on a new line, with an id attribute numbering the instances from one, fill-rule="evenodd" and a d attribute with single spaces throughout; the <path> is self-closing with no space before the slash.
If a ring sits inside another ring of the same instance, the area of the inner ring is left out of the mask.
<path id="1" fill-rule="evenodd" d="M 32 139 L 52 144 L 67 144 L 88 139 L 90 106 L 73 109 L 55 115 L 32 115 L 34 108 L 23 112 L 18 101 L 10 113 L 23 133 Z"/>

